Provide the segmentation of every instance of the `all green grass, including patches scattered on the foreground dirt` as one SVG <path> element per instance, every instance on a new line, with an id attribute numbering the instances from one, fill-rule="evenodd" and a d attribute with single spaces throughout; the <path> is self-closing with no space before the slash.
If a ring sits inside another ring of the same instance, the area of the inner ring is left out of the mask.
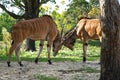
<path id="1" fill-rule="evenodd" d="M 21 47 L 21 51 L 20 51 L 21 60 L 33 62 L 38 53 L 38 49 L 39 49 L 38 45 L 39 45 L 39 42 L 36 41 L 37 51 L 26 52 L 26 51 L 24 51 L 24 44 L 23 44 Z M 8 52 L 6 52 L 7 49 L 8 48 L 6 48 L 6 45 L 2 44 L 0 46 L 0 62 L 4 63 L 7 61 L 7 53 L 8 53 Z M 46 50 L 47 50 L 46 45 L 44 45 L 39 62 L 47 62 L 47 51 Z M 63 61 L 63 63 L 64 63 L 64 61 L 76 61 L 77 62 L 77 61 L 82 61 L 82 56 L 83 56 L 82 54 L 83 54 L 82 42 L 80 40 L 77 40 L 73 51 L 71 51 L 68 48 L 63 46 L 56 57 L 53 57 L 52 53 L 51 53 L 51 60 L 52 60 L 52 62 L 57 62 L 57 61 L 62 62 Z M 96 60 L 99 61 L 99 57 L 100 57 L 100 42 L 98 40 L 89 41 L 88 49 L 87 49 L 87 61 L 96 61 Z M 12 55 L 12 61 L 17 61 L 15 54 Z M 100 72 L 100 70 L 97 70 L 97 69 L 89 67 L 89 66 L 81 67 L 78 71 L 81 73 L 84 73 L 84 74 L 87 74 L 87 73 L 88 74 L 90 74 L 90 73 L 96 74 L 96 73 Z M 35 80 L 60 80 L 58 77 L 41 75 L 40 73 L 34 74 L 32 76 L 34 77 Z M 80 77 L 79 76 L 75 77 L 74 80 L 85 80 L 85 78 L 86 78 L 86 76 L 82 75 Z"/>

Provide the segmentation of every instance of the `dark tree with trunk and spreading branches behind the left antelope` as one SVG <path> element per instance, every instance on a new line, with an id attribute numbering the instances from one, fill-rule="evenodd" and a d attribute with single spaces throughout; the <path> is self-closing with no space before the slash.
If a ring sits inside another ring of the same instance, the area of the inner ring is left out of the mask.
<path id="1" fill-rule="evenodd" d="M 55 2 L 55 0 L 2 0 L 0 1 L 0 7 L 15 19 L 27 20 L 38 17 L 40 6 L 48 1 Z M 17 7 L 21 10 L 21 15 L 17 15 L 14 12 L 9 11 L 8 7 Z M 35 41 L 28 39 L 26 50 L 35 51 Z"/>

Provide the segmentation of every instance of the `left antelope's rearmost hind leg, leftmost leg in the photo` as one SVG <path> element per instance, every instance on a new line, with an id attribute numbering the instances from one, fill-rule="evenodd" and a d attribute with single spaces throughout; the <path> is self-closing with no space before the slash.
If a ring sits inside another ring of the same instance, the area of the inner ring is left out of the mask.
<path id="1" fill-rule="evenodd" d="M 18 45 L 17 43 L 15 43 L 14 41 L 12 41 L 12 44 L 11 44 L 11 47 L 10 47 L 10 50 L 9 50 L 9 53 L 8 53 L 8 61 L 7 61 L 8 67 L 11 66 L 10 65 L 11 56 L 12 56 L 13 51 L 17 47 L 17 45 Z"/>

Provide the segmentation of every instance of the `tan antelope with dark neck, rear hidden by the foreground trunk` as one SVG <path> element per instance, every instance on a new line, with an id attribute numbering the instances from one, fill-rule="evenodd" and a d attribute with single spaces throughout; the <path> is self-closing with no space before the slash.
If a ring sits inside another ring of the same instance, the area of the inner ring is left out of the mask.
<path id="1" fill-rule="evenodd" d="M 69 30 L 62 39 L 62 44 L 73 50 L 76 39 L 81 39 L 83 43 L 83 62 L 86 62 L 86 52 L 89 40 L 102 40 L 101 26 L 99 19 L 82 18 L 76 27 Z"/>

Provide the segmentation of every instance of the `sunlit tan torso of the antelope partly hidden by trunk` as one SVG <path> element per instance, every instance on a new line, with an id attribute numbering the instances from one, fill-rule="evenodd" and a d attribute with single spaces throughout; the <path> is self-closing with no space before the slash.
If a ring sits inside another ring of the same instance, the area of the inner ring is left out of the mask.
<path id="1" fill-rule="evenodd" d="M 101 27 L 99 19 L 81 19 L 77 24 L 77 35 L 88 39 L 99 39 Z"/>

